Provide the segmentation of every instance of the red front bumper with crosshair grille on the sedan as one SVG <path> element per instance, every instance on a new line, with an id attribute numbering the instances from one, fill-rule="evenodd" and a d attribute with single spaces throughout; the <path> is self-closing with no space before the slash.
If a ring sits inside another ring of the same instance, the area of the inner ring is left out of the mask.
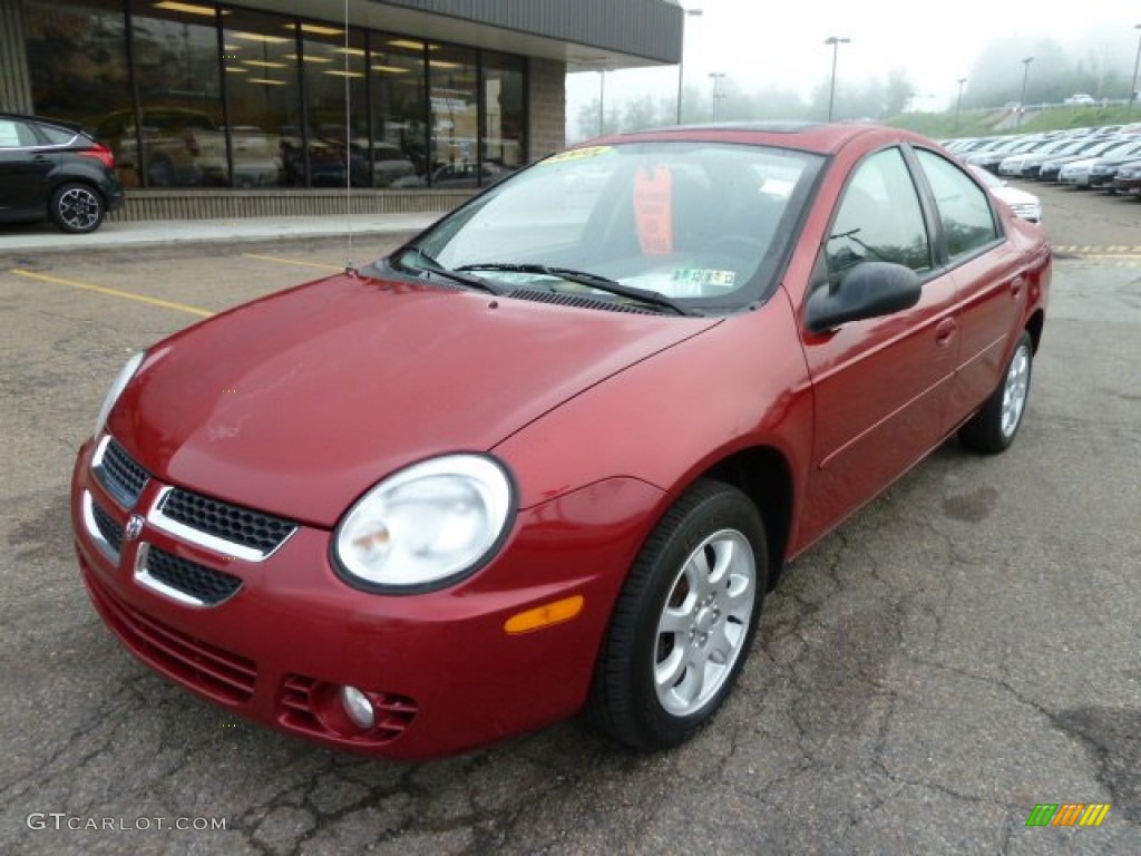
<path id="1" fill-rule="evenodd" d="M 521 510 L 499 556 L 461 583 L 383 596 L 337 576 L 322 530 L 299 525 L 259 558 L 171 526 L 159 510 L 170 486 L 139 477 L 137 496 L 108 490 L 91 468 L 96 451 L 88 444 L 76 460 L 72 524 L 84 583 L 120 641 L 234 713 L 390 758 L 461 752 L 575 713 L 626 568 L 664 502 L 637 479 L 601 482 Z M 504 629 L 512 615 L 575 596 L 583 608 L 573 620 Z M 347 718 L 342 686 L 367 695 L 373 727 Z"/>

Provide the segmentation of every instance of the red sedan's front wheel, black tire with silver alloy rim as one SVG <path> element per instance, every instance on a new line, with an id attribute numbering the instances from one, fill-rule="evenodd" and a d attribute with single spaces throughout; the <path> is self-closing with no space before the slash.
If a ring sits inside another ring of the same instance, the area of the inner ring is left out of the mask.
<path id="1" fill-rule="evenodd" d="M 637 751 L 691 737 L 733 689 L 767 588 L 756 507 L 736 487 L 697 483 L 658 522 L 623 586 L 588 722 Z"/>

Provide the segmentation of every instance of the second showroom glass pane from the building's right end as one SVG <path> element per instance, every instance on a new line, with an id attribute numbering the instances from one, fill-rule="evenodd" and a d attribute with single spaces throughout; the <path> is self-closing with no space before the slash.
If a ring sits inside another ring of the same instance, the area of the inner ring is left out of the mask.
<path id="1" fill-rule="evenodd" d="M 432 187 L 479 184 L 479 110 L 476 51 L 429 46 Z"/>

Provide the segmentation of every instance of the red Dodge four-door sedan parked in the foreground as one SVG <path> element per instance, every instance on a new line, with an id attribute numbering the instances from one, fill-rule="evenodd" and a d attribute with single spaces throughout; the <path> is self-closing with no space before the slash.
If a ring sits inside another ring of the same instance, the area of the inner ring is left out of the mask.
<path id="1" fill-rule="evenodd" d="M 72 488 L 143 662 L 393 758 L 690 737 L 766 592 L 949 436 L 1001 452 L 1050 245 L 871 126 L 600 139 L 132 358 Z"/>

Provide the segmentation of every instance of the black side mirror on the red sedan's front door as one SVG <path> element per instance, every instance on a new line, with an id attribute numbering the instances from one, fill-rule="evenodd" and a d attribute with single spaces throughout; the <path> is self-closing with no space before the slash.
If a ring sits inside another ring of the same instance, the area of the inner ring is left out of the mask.
<path id="1" fill-rule="evenodd" d="M 806 321 L 823 333 L 849 321 L 863 321 L 909 309 L 920 301 L 922 284 L 909 267 L 864 261 L 843 275 L 834 289 L 818 288 L 808 298 Z"/>

